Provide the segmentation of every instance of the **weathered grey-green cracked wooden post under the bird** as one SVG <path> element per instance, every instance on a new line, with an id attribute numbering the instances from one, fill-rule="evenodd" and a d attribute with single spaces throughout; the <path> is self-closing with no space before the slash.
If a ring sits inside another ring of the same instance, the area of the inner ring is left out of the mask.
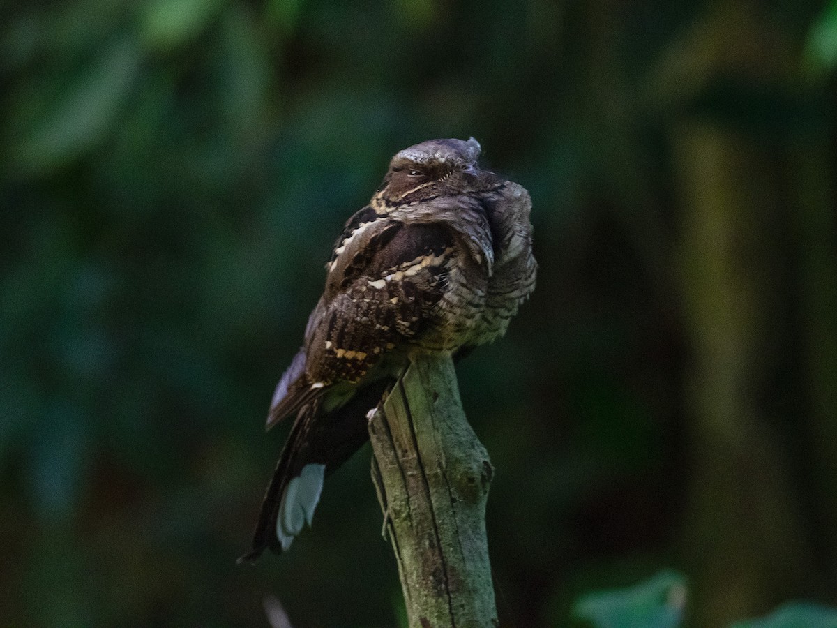
<path id="1" fill-rule="evenodd" d="M 413 358 L 369 435 L 409 625 L 496 626 L 485 535 L 494 470 L 465 419 L 453 361 Z"/>

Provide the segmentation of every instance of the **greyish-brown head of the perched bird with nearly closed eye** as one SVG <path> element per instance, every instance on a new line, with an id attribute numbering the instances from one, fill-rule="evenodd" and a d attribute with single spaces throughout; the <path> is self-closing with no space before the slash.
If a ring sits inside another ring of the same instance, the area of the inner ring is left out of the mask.
<path id="1" fill-rule="evenodd" d="M 496 184 L 496 175 L 480 169 L 480 142 L 428 140 L 403 149 L 389 163 L 376 198 L 388 207 L 438 196 L 479 192 Z"/>

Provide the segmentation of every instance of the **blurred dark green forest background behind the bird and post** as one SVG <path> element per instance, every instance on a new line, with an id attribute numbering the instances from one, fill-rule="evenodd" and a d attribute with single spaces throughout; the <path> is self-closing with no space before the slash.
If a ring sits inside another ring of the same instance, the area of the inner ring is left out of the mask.
<path id="1" fill-rule="evenodd" d="M 398 625 L 368 447 L 235 559 L 341 225 L 472 135 L 541 264 L 459 368 L 502 624 L 837 602 L 835 62 L 814 0 L 3 3 L 0 625 Z"/>

